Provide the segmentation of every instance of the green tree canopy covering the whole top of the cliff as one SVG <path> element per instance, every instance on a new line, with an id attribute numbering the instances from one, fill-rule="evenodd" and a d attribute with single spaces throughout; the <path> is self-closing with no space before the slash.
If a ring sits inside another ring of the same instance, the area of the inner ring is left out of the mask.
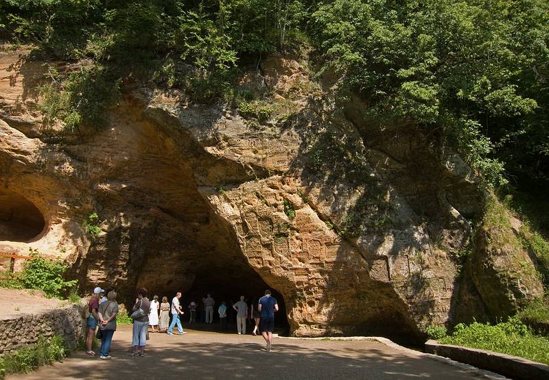
<path id="1" fill-rule="evenodd" d="M 44 90 L 79 88 L 65 111 L 76 126 L 93 122 L 85 84 L 151 75 L 207 100 L 250 58 L 312 50 L 342 107 L 359 97 L 371 123 L 437 131 L 493 186 L 549 181 L 543 0 L 0 0 L 0 25 L 4 40 L 93 61 Z"/>

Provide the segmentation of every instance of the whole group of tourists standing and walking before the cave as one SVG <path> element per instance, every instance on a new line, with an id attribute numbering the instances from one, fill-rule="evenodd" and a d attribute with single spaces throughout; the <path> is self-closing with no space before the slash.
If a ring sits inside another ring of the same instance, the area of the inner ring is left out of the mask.
<path id="1" fill-rule="evenodd" d="M 154 296 L 152 301 L 148 299 L 146 289 L 137 292 L 135 304 L 132 307 L 132 356 L 142 357 L 149 340 L 149 327 L 152 332 L 167 333 L 174 335 L 174 327 L 177 325 L 178 335 L 187 333 L 183 329 L 181 319 L 185 315 L 185 307 L 180 303 L 181 292 L 177 292 L 172 299 L 172 304 L 163 296 L 162 303 L 159 303 L 159 296 Z M 117 327 L 116 316 L 119 312 L 116 301 L 117 292 L 110 288 L 103 290 L 97 286 L 86 307 L 86 323 L 88 335 L 86 339 L 86 354 L 95 356 L 92 351 L 93 338 L 101 340 L 100 359 L 111 359 L 110 344 Z M 216 305 L 211 294 L 202 298 L 199 305 L 191 300 L 189 309 L 189 323 L 213 322 L 213 309 Z M 278 312 L 277 299 L 271 296 L 270 290 L 265 290 L 265 295 L 259 299 L 248 302 L 245 296 L 240 296 L 240 301 L 233 303 L 222 301 L 218 307 L 220 320 L 220 331 L 229 331 L 228 323 L 236 321 L 237 333 L 246 334 L 246 324 L 254 325 L 252 335 L 261 333 L 266 342 L 266 351 L 272 350 L 272 332 L 274 331 L 274 313 Z M 197 319 L 198 313 L 198 319 Z M 170 322 L 171 319 L 171 322 Z M 156 329 L 155 329 L 156 327 Z"/>

